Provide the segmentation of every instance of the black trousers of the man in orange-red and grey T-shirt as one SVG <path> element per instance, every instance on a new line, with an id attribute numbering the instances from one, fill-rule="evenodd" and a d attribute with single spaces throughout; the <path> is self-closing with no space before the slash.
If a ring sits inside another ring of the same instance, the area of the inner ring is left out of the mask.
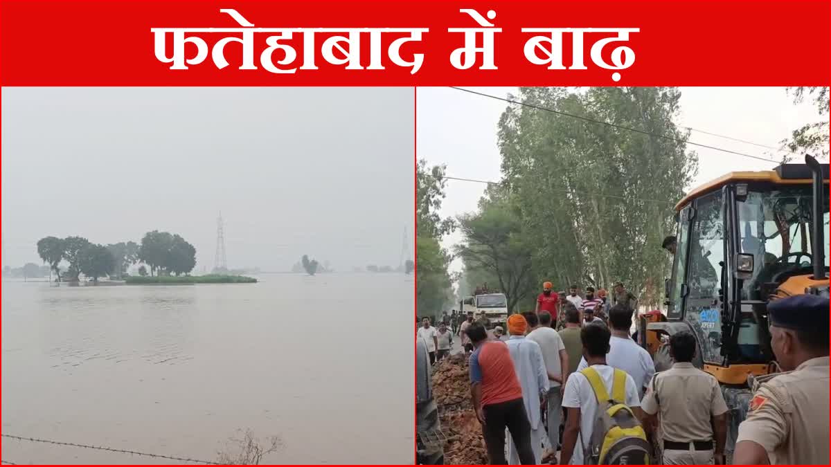
<path id="1" fill-rule="evenodd" d="M 488 450 L 491 465 L 507 465 L 505 459 L 505 428 L 511 434 L 517 447 L 519 462 L 522 465 L 534 465 L 534 450 L 531 446 L 531 424 L 525 413 L 522 397 L 514 401 L 499 402 L 482 407 L 484 413 L 484 445 Z"/>

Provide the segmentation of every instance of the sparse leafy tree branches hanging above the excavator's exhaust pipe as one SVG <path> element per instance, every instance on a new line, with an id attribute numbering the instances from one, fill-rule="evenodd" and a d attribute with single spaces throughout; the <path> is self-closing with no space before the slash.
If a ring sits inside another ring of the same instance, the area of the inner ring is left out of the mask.
<path id="1" fill-rule="evenodd" d="M 817 113 L 822 120 L 803 125 L 791 133 L 789 139 L 783 140 L 782 144 L 789 150 L 801 153 L 808 152 L 817 156 L 829 156 L 829 88 L 828 87 L 789 87 L 788 92 L 794 97 L 794 104 L 804 101 L 809 97 L 814 101 Z M 785 157 L 785 161 L 793 159 Z"/>

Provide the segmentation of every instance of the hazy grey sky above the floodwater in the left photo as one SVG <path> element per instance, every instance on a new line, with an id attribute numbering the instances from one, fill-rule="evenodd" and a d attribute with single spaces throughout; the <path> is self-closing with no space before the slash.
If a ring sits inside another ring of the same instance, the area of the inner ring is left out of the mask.
<path id="1" fill-rule="evenodd" d="M 2 264 L 40 263 L 47 235 L 159 229 L 201 272 L 221 210 L 230 268 L 395 267 L 413 106 L 412 88 L 3 88 Z"/>

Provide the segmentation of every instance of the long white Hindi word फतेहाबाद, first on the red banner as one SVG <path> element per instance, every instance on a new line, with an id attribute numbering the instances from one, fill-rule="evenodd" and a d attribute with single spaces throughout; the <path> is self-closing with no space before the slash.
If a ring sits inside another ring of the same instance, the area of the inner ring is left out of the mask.
<path id="1" fill-rule="evenodd" d="M 383 33 L 391 33 L 396 36 L 406 34 L 405 37 L 396 37 L 392 40 L 386 49 L 386 56 L 396 66 L 409 67 L 410 74 L 416 74 L 424 63 L 424 54 L 412 53 L 412 60 L 407 61 L 401 57 L 401 47 L 406 42 L 420 42 L 422 35 L 429 32 L 427 28 L 410 27 L 410 28 L 302 28 L 302 27 L 254 27 L 253 23 L 248 22 L 241 14 L 234 9 L 224 8 L 219 12 L 228 14 L 234 18 L 240 27 L 153 27 L 150 32 L 154 34 L 154 50 L 155 57 L 162 63 L 170 63 L 171 70 L 187 70 L 188 66 L 199 65 L 209 55 L 214 65 L 222 70 L 229 66 L 229 62 L 225 59 L 224 48 L 230 42 L 238 42 L 242 46 L 242 64 L 239 66 L 240 70 L 257 70 L 255 64 L 254 53 L 254 34 L 268 32 L 271 35 L 266 38 L 266 47 L 259 56 L 260 65 L 263 69 L 271 73 L 294 73 L 299 70 L 317 70 L 315 63 L 316 57 L 316 37 L 315 33 L 326 34 L 327 36 L 321 44 L 321 55 L 324 61 L 332 65 L 341 66 L 346 65 L 346 70 L 384 70 L 383 66 L 383 43 L 381 41 Z M 231 36 L 224 37 L 214 44 L 213 47 L 208 46 L 208 42 L 201 37 L 195 36 L 195 33 L 235 33 L 241 37 Z M 302 35 L 302 64 L 300 66 L 291 67 L 297 61 L 298 53 L 294 47 L 281 43 L 280 41 L 291 41 L 294 38 L 294 33 Z M 172 36 L 172 55 L 167 54 L 167 37 L 168 34 Z M 368 66 L 361 65 L 361 35 L 368 34 L 370 44 L 370 62 Z M 186 36 L 188 35 L 188 36 Z M 185 44 L 194 44 L 196 46 L 196 54 L 194 57 L 186 57 Z M 337 57 L 336 51 L 344 58 Z M 279 56 L 274 57 L 274 53 L 278 52 Z M 275 60 L 276 59 L 276 60 Z"/>

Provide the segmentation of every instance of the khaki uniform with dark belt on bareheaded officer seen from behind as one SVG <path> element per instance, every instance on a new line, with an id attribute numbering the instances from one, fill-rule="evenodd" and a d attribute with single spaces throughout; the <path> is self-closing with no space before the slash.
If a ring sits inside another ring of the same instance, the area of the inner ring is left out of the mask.
<path id="1" fill-rule="evenodd" d="M 652 377 L 641 409 L 649 415 L 661 412 L 664 464 L 713 464 L 711 419 L 727 411 L 715 377 L 691 363 L 676 363 Z"/>

